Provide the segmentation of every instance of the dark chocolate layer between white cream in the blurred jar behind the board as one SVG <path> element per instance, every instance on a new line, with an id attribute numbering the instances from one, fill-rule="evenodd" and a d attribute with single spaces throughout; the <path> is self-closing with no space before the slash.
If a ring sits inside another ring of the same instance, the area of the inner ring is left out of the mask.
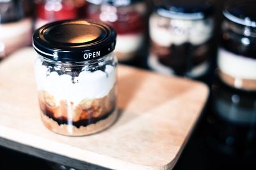
<path id="1" fill-rule="evenodd" d="M 184 74 L 209 60 L 211 53 L 211 39 L 202 45 L 191 45 L 183 43 L 182 45 L 171 45 L 168 47 L 158 45 L 151 40 L 150 53 L 156 56 L 159 62 L 164 66 L 174 69 L 175 74 Z"/>

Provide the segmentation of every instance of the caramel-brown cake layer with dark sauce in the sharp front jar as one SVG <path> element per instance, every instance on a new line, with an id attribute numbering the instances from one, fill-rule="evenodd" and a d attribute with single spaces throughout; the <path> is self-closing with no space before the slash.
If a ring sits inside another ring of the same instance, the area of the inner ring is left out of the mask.
<path id="1" fill-rule="evenodd" d="M 96 124 L 107 119 L 115 110 L 115 86 L 107 96 L 97 99 L 84 99 L 80 103 L 67 100 L 58 101 L 45 91 L 39 92 L 39 103 L 42 113 L 58 125 L 72 125 L 77 128 Z"/>

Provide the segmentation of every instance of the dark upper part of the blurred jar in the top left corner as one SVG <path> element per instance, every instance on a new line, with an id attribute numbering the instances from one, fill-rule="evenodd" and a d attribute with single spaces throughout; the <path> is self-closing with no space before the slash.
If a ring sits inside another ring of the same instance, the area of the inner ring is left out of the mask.
<path id="1" fill-rule="evenodd" d="M 24 18 L 20 0 L 0 0 L 0 23 L 15 22 Z"/>

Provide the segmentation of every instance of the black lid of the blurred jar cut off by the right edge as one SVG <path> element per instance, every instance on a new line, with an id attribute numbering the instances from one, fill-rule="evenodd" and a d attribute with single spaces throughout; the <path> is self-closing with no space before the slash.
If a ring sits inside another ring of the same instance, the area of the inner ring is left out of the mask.
<path id="1" fill-rule="evenodd" d="M 236 24 L 256 27 L 256 1 L 229 1 L 223 15 Z"/>

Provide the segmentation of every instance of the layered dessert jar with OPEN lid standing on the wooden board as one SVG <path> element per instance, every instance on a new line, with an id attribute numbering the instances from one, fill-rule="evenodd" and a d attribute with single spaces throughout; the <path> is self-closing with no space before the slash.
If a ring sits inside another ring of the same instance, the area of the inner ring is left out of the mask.
<path id="1" fill-rule="evenodd" d="M 101 22 L 64 20 L 33 36 L 41 118 L 51 131 L 81 136 L 115 122 L 116 33 Z"/>

